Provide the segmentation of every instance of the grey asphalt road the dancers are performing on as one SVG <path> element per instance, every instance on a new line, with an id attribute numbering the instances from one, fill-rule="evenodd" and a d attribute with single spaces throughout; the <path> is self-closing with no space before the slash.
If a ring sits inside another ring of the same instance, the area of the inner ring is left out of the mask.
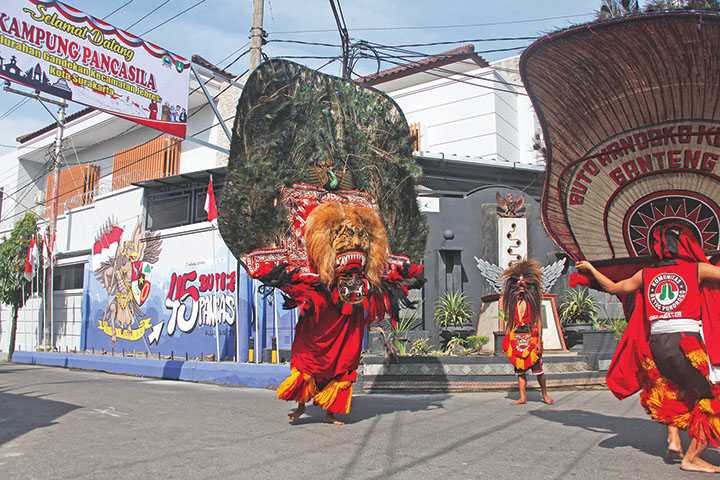
<path id="1" fill-rule="evenodd" d="M 684 479 L 604 390 L 358 395 L 348 424 L 266 390 L 0 364 L 2 479 Z M 720 463 L 712 452 L 709 459 Z"/>

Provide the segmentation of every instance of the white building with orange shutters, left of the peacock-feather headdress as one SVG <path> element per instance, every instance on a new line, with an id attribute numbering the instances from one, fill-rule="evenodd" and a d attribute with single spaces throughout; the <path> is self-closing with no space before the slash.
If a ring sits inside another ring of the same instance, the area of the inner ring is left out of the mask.
<path id="1" fill-rule="evenodd" d="M 230 73 L 201 57 L 193 57 L 205 87 L 232 129 L 227 105 L 237 103 L 240 85 Z M 188 138 L 178 141 L 127 120 L 85 108 L 68 116 L 59 181 L 54 295 L 54 344 L 80 349 L 85 265 L 98 231 L 109 219 L 129 234 L 135 224 L 165 237 L 199 235 L 203 243 L 208 222 L 203 210 L 210 173 L 227 165 L 229 141 L 198 82 L 191 75 Z M 234 108 L 231 110 L 234 112 Z M 14 166 L 2 179 L 4 201 L 0 232 L 12 229 L 27 211 L 45 219 L 49 214 L 48 152 L 55 141 L 53 124 L 18 138 L 19 148 L 2 158 Z M 163 179 L 155 185 L 148 181 Z M 215 179 L 221 188 L 222 176 Z M 143 186 L 141 186 L 143 185 Z M 16 347 L 32 350 L 42 341 L 40 296 L 19 313 Z M 46 307 L 47 308 L 47 307 Z M 10 309 L 2 310 L 0 351 L 7 350 Z"/>

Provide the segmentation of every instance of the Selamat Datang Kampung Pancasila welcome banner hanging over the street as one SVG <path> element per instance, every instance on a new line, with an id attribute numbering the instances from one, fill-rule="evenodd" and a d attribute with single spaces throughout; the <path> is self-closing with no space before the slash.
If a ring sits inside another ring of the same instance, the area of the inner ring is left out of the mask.
<path id="1" fill-rule="evenodd" d="M 0 78 L 184 138 L 190 63 L 54 0 L 3 0 Z"/>

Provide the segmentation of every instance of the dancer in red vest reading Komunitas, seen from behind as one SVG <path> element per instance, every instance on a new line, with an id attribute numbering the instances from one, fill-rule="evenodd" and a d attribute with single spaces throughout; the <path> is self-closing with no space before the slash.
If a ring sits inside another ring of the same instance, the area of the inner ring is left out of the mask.
<path id="1" fill-rule="evenodd" d="M 657 227 L 651 247 L 658 263 L 619 282 L 589 262 L 577 263 L 603 290 L 634 295 L 607 384 L 620 399 L 642 390 L 647 413 L 668 425 L 668 449 L 682 455 L 681 469 L 720 473 L 700 458 L 708 445 L 720 446 L 720 385 L 710 381 L 720 365 L 720 295 L 713 283 L 720 281 L 720 268 L 684 225 Z M 691 438 L 684 455 L 678 429 Z"/>

